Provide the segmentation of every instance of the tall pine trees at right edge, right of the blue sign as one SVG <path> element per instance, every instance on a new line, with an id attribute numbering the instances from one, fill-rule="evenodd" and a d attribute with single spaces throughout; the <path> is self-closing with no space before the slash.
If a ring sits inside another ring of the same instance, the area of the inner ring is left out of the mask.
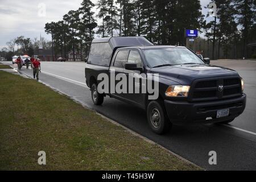
<path id="1" fill-rule="evenodd" d="M 219 58 L 256 58 L 256 1 L 255 0 L 215 0 L 217 5 L 216 52 Z M 214 22 L 203 26 L 208 47 L 213 42 Z M 221 55 L 222 53 L 222 55 Z"/>

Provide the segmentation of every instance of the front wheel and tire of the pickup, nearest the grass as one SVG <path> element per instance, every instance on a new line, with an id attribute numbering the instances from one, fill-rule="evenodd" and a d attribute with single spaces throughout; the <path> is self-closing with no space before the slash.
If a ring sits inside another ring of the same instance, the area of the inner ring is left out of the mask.
<path id="1" fill-rule="evenodd" d="M 170 132 L 170 122 L 164 104 L 161 101 L 151 101 L 147 106 L 147 122 L 154 133 L 162 135 Z"/>

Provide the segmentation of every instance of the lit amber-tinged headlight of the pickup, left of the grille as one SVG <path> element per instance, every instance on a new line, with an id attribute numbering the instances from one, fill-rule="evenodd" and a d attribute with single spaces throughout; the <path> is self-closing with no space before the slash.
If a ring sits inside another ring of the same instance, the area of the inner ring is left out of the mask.
<path id="1" fill-rule="evenodd" d="M 188 97 L 190 86 L 169 86 L 166 90 L 167 97 Z"/>

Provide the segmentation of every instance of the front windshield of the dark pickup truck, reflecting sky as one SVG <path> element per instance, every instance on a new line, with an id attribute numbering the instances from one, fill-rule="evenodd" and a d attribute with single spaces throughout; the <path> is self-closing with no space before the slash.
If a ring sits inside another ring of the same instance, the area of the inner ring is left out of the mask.
<path id="1" fill-rule="evenodd" d="M 165 65 L 205 64 L 197 55 L 187 48 L 156 48 L 145 49 L 143 52 L 147 64 L 151 68 Z"/>

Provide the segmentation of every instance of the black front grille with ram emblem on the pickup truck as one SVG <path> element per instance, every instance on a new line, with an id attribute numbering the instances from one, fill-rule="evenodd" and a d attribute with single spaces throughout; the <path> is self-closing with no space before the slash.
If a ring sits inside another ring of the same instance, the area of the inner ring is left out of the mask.
<path id="1" fill-rule="evenodd" d="M 217 77 L 195 80 L 189 92 L 189 101 L 223 100 L 242 95 L 241 78 Z"/>

